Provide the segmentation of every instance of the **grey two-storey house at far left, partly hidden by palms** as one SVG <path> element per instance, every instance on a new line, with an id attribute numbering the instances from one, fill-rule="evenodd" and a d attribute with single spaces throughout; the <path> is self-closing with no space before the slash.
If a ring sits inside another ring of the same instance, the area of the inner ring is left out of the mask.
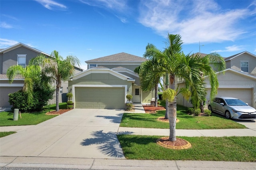
<path id="1" fill-rule="evenodd" d="M 22 65 L 26 67 L 30 59 L 43 54 L 50 57 L 49 54 L 44 53 L 38 49 L 25 45 L 23 43 L 17 43 L 6 49 L 0 49 L 0 107 L 12 107 L 9 104 L 9 93 L 14 93 L 22 89 L 24 85 L 24 79 L 20 75 L 14 78 L 12 84 L 10 84 L 6 72 L 12 65 Z M 82 69 L 75 67 L 76 73 L 81 72 Z M 53 84 L 54 87 L 55 84 Z M 68 81 L 62 82 L 60 88 L 60 99 L 59 102 L 66 102 L 66 93 L 68 92 Z M 50 104 L 56 102 L 55 94 L 54 99 L 49 101 Z"/>

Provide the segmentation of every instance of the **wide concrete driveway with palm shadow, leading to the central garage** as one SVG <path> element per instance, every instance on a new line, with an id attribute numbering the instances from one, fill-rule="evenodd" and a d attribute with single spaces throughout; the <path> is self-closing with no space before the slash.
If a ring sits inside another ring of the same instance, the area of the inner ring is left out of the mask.
<path id="1" fill-rule="evenodd" d="M 72 109 L 0 138 L 0 156 L 124 159 L 116 137 L 124 110 Z"/>

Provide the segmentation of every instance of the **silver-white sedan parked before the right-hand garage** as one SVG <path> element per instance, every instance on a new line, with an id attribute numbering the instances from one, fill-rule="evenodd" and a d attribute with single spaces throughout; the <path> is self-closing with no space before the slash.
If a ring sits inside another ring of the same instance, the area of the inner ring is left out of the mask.
<path id="1" fill-rule="evenodd" d="M 227 119 L 256 119 L 256 109 L 234 97 L 215 97 L 213 101 L 209 101 L 208 109 L 224 115 Z"/>

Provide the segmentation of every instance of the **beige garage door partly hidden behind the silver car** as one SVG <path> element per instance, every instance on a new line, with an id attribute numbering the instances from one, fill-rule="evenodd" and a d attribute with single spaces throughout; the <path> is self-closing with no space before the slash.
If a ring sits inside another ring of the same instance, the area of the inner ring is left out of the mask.
<path id="1" fill-rule="evenodd" d="M 218 89 L 217 96 L 235 97 L 252 106 L 252 89 Z"/>

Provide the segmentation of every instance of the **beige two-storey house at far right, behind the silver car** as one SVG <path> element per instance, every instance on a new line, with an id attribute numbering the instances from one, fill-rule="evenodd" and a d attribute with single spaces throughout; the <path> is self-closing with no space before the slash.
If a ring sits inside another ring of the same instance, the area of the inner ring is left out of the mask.
<path id="1" fill-rule="evenodd" d="M 216 96 L 236 97 L 256 108 L 256 55 L 244 51 L 225 58 L 225 61 L 227 69 L 217 72 L 219 87 Z M 208 94 L 205 103 L 207 107 L 210 99 L 208 77 L 205 77 L 205 82 Z M 182 82 L 178 84 L 180 87 L 184 86 Z M 192 107 L 181 95 L 178 95 L 177 104 Z"/>

